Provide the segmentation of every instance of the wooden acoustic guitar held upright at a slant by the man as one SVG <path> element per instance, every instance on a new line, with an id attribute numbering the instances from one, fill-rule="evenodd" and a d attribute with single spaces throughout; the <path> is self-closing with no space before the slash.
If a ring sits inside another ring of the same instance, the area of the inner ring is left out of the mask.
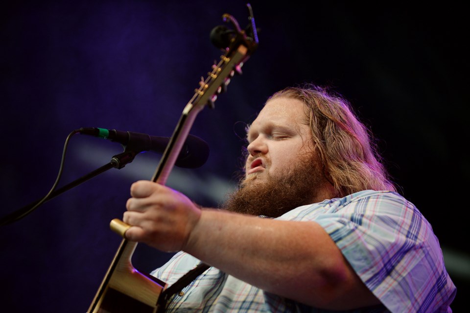
<path id="1" fill-rule="evenodd" d="M 241 74 L 243 64 L 258 47 L 253 12 L 250 4 L 247 4 L 247 7 L 250 23 L 246 30 L 240 29 L 235 18 L 229 14 L 224 14 L 222 19 L 230 23 L 233 30 L 224 25 L 216 26 L 212 30 L 212 43 L 224 53 L 218 64 L 212 66 L 206 79 L 199 82 L 199 88 L 195 89 L 194 96 L 185 106 L 152 181 L 165 184 L 196 115 L 206 106 L 214 107 L 217 96 L 226 91 L 235 74 Z M 110 226 L 122 237 L 125 230 L 130 227 L 119 219 L 113 219 Z M 133 267 L 132 255 L 136 246 L 137 242 L 125 238 L 121 241 L 88 313 L 159 312 L 159 297 L 167 286 L 164 282 Z"/>

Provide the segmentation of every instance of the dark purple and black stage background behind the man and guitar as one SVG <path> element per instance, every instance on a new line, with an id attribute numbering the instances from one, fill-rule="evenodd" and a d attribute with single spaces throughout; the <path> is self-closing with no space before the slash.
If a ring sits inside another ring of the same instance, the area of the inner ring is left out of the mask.
<path id="1" fill-rule="evenodd" d="M 175 168 L 167 185 L 218 205 L 235 186 L 244 125 L 266 98 L 296 83 L 332 86 L 376 134 L 400 192 L 433 225 L 457 286 L 452 308 L 465 311 L 466 10 L 451 2 L 309 3 L 251 2 L 259 48 L 191 129 L 210 158 L 199 169 Z M 1 216 L 49 191 L 75 129 L 170 136 L 219 59 L 211 29 L 224 24 L 223 13 L 248 24 L 242 1 L 7 1 L 0 12 Z M 59 185 L 122 151 L 73 136 Z M 109 221 L 122 217 L 130 184 L 150 179 L 159 157 L 140 154 L 1 227 L 2 311 L 86 312 L 120 242 Z M 141 244 L 133 262 L 150 271 L 170 256 Z"/>

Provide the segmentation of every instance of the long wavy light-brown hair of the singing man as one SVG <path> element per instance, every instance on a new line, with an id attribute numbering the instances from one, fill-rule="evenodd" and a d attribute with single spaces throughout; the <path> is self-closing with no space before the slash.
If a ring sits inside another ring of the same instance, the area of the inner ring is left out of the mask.
<path id="1" fill-rule="evenodd" d="M 382 164 L 374 136 L 347 100 L 312 84 L 288 87 L 269 99 L 279 97 L 305 104 L 315 151 L 339 196 L 368 189 L 397 191 Z"/>

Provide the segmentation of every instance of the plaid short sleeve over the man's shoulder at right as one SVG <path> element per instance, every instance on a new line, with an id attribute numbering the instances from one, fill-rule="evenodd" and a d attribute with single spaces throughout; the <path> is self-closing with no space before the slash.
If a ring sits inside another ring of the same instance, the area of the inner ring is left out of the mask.
<path id="1" fill-rule="evenodd" d="M 439 241 L 423 215 L 402 196 L 367 191 L 298 209 L 297 217 L 325 229 L 391 312 L 451 312 L 455 286 Z"/>

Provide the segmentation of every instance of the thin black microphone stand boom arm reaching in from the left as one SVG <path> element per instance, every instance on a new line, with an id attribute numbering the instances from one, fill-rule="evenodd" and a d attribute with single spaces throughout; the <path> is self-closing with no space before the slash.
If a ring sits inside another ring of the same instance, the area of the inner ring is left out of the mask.
<path id="1" fill-rule="evenodd" d="M 138 151 L 138 152 L 141 152 L 141 151 Z M 124 150 L 124 152 L 113 156 L 113 158 L 111 159 L 111 161 L 108 164 L 106 164 L 106 165 L 104 165 L 104 166 L 102 166 L 98 169 L 95 169 L 94 171 L 88 173 L 85 176 L 82 176 L 82 177 L 74 180 L 73 182 L 63 186 L 62 188 L 59 188 L 59 189 L 53 191 L 52 193 L 50 193 L 47 196 L 47 198 L 42 198 L 42 199 L 36 200 L 34 202 L 31 202 L 30 204 L 24 206 L 23 208 L 15 211 L 13 213 L 10 213 L 10 214 L 6 215 L 5 217 L 1 217 L 0 218 L 0 226 L 11 224 L 11 223 L 23 218 L 28 213 L 30 213 L 29 211 L 32 210 L 34 208 L 34 206 L 37 205 L 39 202 L 44 203 L 44 202 L 58 196 L 59 194 L 65 193 L 66 191 L 68 191 L 68 190 L 70 190 L 70 189 L 86 182 L 87 180 L 89 180 L 89 179 L 91 179 L 91 178 L 107 171 L 108 169 L 112 169 L 112 168 L 122 169 L 126 164 L 131 163 L 134 160 L 134 158 L 136 157 L 138 152 L 134 151 L 134 149 L 127 149 L 126 148 Z"/>

